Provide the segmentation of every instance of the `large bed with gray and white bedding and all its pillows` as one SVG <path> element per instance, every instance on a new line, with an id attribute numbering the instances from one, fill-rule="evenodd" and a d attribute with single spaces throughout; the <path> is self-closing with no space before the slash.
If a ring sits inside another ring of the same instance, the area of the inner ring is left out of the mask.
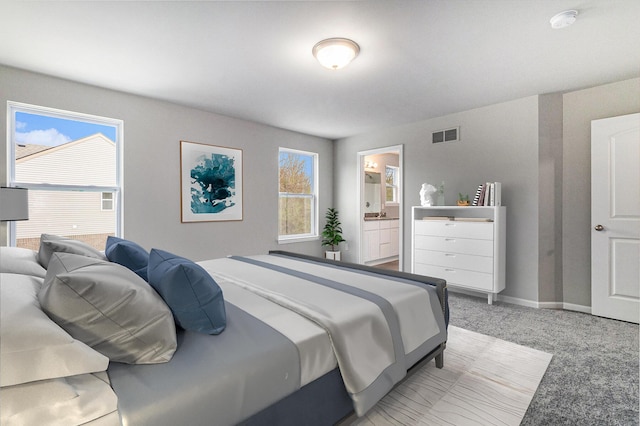
<path id="1" fill-rule="evenodd" d="M 443 365 L 440 279 L 113 237 L 0 250 L 3 425 L 331 425 Z"/>

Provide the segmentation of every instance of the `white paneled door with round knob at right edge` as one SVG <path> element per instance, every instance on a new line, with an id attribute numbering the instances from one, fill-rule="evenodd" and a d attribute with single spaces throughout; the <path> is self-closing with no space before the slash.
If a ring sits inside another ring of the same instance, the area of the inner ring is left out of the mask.
<path id="1" fill-rule="evenodd" d="M 640 114 L 591 122 L 591 312 L 640 321 Z"/>

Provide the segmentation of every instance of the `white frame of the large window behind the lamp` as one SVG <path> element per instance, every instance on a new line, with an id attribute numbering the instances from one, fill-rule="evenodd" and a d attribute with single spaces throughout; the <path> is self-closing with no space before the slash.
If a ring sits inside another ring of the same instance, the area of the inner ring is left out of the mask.
<path id="1" fill-rule="evenodd" d="M 66 120 L 84 121 L 93 124 L 113 126 L 116 129 L 116 185 L 59 185 L 48 183 L 19 182 L 15 179 L 16 172 L 16 113 L 45 115 Z M 81 112 L 68 111 L 59 108 L 51 108 L 40 105 L 31 105 L 22 102 L 7 101 L 7 176 L 8 186 L 19 186 L 29 190 L 45 191 L 86 191 L 86 192 L 111 192 L 113 193 L 113 210 L 116 211 L 115 235 L 121 237 L 124 230 L 124 121 L 116 118 L 102 117 Z M 102 198 L 102 195 L 101 195 Z M 102 207 L 102 206 L 101 206 Z M 9 246 L 16 246 L 16 223 L 8 222 Z"/>

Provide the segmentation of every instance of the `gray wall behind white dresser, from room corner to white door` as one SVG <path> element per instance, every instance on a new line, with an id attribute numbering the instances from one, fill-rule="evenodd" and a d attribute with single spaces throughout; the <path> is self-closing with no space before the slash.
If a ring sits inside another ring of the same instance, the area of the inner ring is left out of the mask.
<path id="1" fill-rule="evenodd" d="M 339 141 L 336 206 L 357 258 L 358 151 L 404 144 L 404 268 L 410 269 L 410 206 L 420 184 L 445 181 L 447 204 L 478 183 L 501 181 L 507 206 L 505 296 L 540 306 L 591 306 L 591 120 L 640 112 L 640 79 L 540 95 Z M 462 140 L 430 144 L 461 126 Z"/>

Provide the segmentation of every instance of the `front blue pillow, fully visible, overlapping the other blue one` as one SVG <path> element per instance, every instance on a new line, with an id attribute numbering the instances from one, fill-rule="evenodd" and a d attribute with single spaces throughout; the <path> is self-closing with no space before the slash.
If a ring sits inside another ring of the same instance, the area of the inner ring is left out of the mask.
<path id="1" fill-rule="evenodd" d="M 220 334 L 227 325 L 222 289 L 200 265 L 151 249 L 149 284 L 162 296 L 176 323 L 185 330 Z"/>

